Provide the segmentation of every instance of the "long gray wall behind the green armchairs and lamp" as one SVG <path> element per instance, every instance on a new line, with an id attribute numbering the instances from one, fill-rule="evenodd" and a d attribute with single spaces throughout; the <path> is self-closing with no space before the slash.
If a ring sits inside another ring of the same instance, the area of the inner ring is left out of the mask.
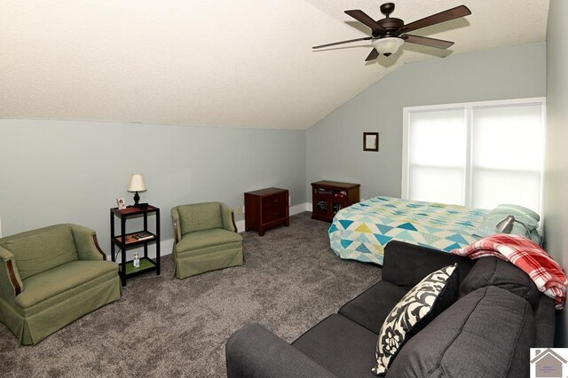
<path id="1" fill-rule="evenodd" d="M 162 210 L 162 239 L 171 239 L 179 204 L 242 206 L 244 192 L 267 186 L 304 203 L 305 151 L 304 130 L 0 120 L 2 231 L 83 224 L 109 254 L 109 209 L 118 197 L 133 202 L 128 180 L 142 173 L 141 201 Z"/>

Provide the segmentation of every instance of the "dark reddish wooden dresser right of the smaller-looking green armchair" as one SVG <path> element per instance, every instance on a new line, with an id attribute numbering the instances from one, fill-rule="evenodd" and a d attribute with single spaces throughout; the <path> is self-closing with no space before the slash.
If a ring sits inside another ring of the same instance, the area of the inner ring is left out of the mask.
<path id="1" fill-rule="evenodd" d="M 288 189 L 266 188 L 245 193 L 245 231 L 290 225 Z"/>

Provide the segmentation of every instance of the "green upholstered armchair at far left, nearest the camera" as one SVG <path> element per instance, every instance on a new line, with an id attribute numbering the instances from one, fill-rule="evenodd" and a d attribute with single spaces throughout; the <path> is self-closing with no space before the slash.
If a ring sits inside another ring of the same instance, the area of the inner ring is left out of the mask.
<path id="1" fill-rule="evenodd" d="M 76 224 L 0 239 L 0 321 L 36 344 L 120 299 L 118 265 L 105 260 L 96 233 Z"/>

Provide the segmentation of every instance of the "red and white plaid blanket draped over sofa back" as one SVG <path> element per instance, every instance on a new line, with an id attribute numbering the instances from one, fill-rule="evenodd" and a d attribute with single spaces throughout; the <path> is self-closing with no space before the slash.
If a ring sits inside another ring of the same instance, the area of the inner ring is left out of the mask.
<path id="1" fill-rule="evenodd" d="M 556 309 L 564 307 L 568 280 L 562 267 L 524 236 L 499 233 L 477 240 L 468 247 L 453 249 L 452 253 L 472 259 L 495 256 L 509 261 L 528 274 L 540 292 L 554 298 Z"/>

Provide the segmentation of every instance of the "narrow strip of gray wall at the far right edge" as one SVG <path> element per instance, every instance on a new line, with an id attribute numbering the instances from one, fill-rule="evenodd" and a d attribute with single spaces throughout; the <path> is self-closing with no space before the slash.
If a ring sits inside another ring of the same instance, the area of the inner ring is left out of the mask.
<path id="1" fill-rule="evenodd" d="M 544 235 L 548 253 L 568 272 L 568 2 L 551 0 L 547 32 L 547 155 Z M 568 313 L 557 323 L 556 344 L 568 346 Z"/>

